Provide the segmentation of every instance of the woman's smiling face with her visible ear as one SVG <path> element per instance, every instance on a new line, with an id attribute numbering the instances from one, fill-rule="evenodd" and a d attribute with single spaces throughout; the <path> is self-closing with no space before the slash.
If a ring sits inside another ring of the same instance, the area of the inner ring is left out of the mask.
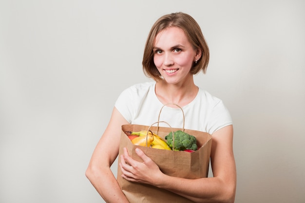
<path id="1" fill-rule="evenodd" d="M 187 82 L 191 67 L 201 53 L 194 50 L 184 31 L 169 27 L 159 32 L 153 46 L 153 61 L 167 83 Z"/>

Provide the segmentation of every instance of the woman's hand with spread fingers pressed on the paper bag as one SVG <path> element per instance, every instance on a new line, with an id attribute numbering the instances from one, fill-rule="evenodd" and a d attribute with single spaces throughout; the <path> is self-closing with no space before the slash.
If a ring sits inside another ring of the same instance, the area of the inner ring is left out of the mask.
<path id="1" fill-rule="evenodd" d="M 131 182 L 157 185 L 163 175 L 159 166 L 141 149 L 136 148 L 135 152 L 143 162 L 135 161 L 129 156 L 127 148 L 124 148 L 124 155 L 121 155 L 120 163 L 122 177 Z"/>

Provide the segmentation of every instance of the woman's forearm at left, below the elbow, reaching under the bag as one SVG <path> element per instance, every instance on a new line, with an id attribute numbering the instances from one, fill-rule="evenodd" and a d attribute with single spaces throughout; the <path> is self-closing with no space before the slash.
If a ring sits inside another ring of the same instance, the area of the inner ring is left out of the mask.
<path id="1" fill-rule="evenodd" d="M 107 203 L 129 203 L 109 167 L 88 167 L 86 176 Z"/>

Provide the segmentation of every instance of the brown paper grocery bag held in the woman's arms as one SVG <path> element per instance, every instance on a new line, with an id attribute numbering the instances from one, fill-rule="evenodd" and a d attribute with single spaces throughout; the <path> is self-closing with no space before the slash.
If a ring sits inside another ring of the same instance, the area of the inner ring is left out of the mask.
<path id="1" fill-rule="evenodd" d="M 153 133 L 158 134 L 163 139 L 172 131 L 184 130 L 196 137 L 197 145 L 200 148 L 194 152 L 186 152 L 135 146 L 130 141 L 127 134 L 125 134 L 125 131 L 148 129 L 152 130 Z M 133 159 L 142 161 L 134 151 L 135 148 L 140 148 L 160 167 L 161 171 L 167 175 L 188 179 L 204 178 L 208 177 L 209 172 L 211 142 L 212 137 L 209 133 L 196 130 L 159 126 L 123 125 L 118 163 L 120 163 L 120 155 L 123 154 L 124 147 L 128 149 L 128 152 Z M 118 167 L 117 182 L 130 203 L 193 203 L 189 199 L 152 185 L 129 182 L 123 179 L 121 174 L 122 171 L 120 167 Z M 153 174 L 151 175 L 153 176 Z"/>

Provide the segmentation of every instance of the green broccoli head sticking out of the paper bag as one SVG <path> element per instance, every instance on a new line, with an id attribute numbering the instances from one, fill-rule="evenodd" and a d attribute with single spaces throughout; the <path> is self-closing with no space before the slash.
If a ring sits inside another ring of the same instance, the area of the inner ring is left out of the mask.
<path id="1" fill-rule="evenodd" d="M 196 137 L 182 130 L 173 132 L 174 134 L 174 150 L 181 151 L 186 149 L 197 150 Z M 172 148 L 172 132 L 165 136 L 167 144 Z"/>

